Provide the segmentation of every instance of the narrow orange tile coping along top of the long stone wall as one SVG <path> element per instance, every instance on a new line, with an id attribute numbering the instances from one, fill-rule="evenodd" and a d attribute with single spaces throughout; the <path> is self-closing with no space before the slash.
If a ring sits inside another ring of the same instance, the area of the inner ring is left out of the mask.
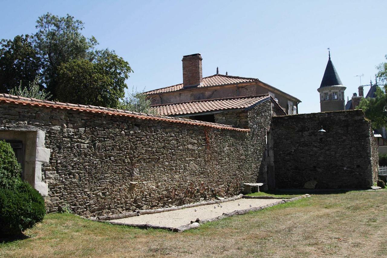
<path id="1" fill-rule="evenodd" d="M 180 123 L 180 124 L 192 124 L 197 126 L 207 126 L 207 127 L 218 128 L 218 129 L 228 129 L 228 130 L 235 130 L 235 131 L 244 131 L 244 132 L 250 131 L 250 129 L 235 128 L 224 124 L 202 122 L 202 121 L 182 119 L 177 117 L 163 117 L 159 115 L 130 112 L 130 111 L 120 110 L 115 108 L 96 107 L 92 105 L 86 106 L 86 105 L 79 105 L 79 104 L 62 103 L 57 101 L 38 100 L 35 98 L 25 98 L 21 96 L 14 96 L 14 95 L 9 95 L 4 93 L 0 93 L 0 105 L 1 103 L 13 103 L 17 105 L 31 105 L 31 106 L 47 107 L 47 108 L 77 110 L 81 112 L 91 112 L 91 113 L 101 113 L 101 114 L 107 114 L 107 115 L 133 117 L 133 118 L 144 119 L 144 120 L 159 120 L 159 121 L 173 122 L 173 123 Z"/>

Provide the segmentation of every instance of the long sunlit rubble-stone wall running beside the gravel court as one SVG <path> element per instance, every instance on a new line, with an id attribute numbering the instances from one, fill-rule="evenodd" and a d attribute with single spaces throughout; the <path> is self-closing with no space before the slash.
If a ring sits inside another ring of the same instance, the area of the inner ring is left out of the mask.
<path id="1" fill-rule="evenodd" d="M 271 121 L 270 101 L 249 111 L 250 132 L 93 112 L 0 103 L 0 137 L 45 132 L 50 212 L 69 205 L 96 216 L 238 194 L 257 180 Z"/>

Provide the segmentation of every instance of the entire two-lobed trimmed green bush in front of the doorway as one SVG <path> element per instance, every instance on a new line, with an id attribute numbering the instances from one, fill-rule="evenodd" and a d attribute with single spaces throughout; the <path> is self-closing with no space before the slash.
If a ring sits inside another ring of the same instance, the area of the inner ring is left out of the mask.
<path id="1" fill-rule="evenodd" d="M 21 166 L 9 143 L 0 141 L 0 236 L 15 236 L 43 220 L 45 202 L 20 178 Z"/>

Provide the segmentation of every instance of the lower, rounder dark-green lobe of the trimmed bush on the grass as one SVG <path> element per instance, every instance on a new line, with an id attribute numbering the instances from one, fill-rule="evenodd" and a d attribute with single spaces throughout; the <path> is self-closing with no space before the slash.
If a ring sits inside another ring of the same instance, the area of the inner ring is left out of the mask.
<path id="1" fill-rule="evenodd" d="M 46 208 L 43 197 L 27 182 L 13 189 L 0 188 L 0 235 L 15 236 L 41 222 Z"/>

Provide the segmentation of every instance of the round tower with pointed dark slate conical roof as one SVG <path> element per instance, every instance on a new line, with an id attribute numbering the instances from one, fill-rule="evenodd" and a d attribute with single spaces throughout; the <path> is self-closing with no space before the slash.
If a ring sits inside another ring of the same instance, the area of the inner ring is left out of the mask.
<path id="1" fill-rule="evenodd" d="M 345 89 L 346 87 L 342 85 L 339 74 L 330 60 L 329 52 L 327 67 L 325 67 L 320 88 L 317 89 L 320 93 L 321 112 L 345 110 Z"/>

